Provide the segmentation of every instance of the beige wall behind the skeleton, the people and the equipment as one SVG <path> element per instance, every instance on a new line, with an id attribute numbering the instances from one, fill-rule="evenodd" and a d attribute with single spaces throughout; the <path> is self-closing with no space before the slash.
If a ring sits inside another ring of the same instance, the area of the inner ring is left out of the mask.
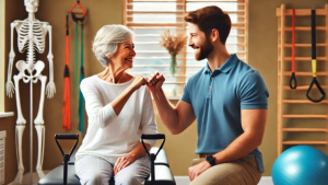
<path id="1" fill-rule="evenodd" d="M 1 2 L 1 1 L 0 1 Z M 8 0 L 5 1 L 5 61 L 8 61 L 8 54 L 10 47 L 10 23 L 13 20 L 22 20 L 27 16 L 24 10 L 22 0 Z M 36 18 L 40 21 L 47 21 L 52 25 L 52 53 L 55 62 L 55 83 L 57 93 L 54 99 L 45 101 L 45 124 L 46 124 L 46 147 L 44 169 L 50 170 L 61 163 L 62 158 L 54 141 L 55 134 L 75 134 L 79 132 L 77 127 L 78 123 L 74 117 L 77 113 L 77 100 L 73 99 L 74 94 L 74 23 L 70 22 L 70 67 L 71 67 L 71 93 L 72 93 L 72 130 L 66 131 L 61 128 L 61 109 L 63 97 L 63 67 L 65 67 L 65 15 L 71 8 L 71 1 L 47 0 L 40 1 L 40 7 L 36 13 Z M 85 77 L 92 76 L 103 70 L 102 66 L 95 60 L 91 51 L 92 38 L 96 31 L 105 24 L 121 24 L 121 1 L 119 0 L 93 0 L 82 1 L 83 5 L 87 9 L 84 28 L 84 69 Z M 249 0 L 249 65 L 258 69 L 269 88 L 269 114 L 263 142 L 260 150 L 263 153 L 263 161 L 266 172 L 263 175 L 271 174 L 272 164 L 277 158 L 277 18 L 276 8 L 281 3 L 285 3 L 286 8 L 324 8 L 326 0 L 313 1 L 293 1 L 293 0 Z M 48 41 L 47 41 L 48 43 Z M 16 45 L 15 45 L 16 46 Z M 46 51 L 48 48 L 46 48 Z M 24 59 L 25 54 L 16 53 L 15 61 Z M 44 74 L 48 76 L 47 54 L 37 55 L 37 59 L 46 62 Z M 7 69 L 5 63 L 5 69 Z M 17 73 L 14 69 L 13 73 Z M 30 169 L 28 153 L 30 153 L 30 86 L 24 83 L 22 91 L 25 92 L 25 99 L 22 99 L 23 114 L 27 120 L 27 126 L 24 131 L 24 165 Z M 39 83 L 34 85 L 34 105 L 38 105 L 39 97 Z M 3 90 L 3 89 L 1 89 Z M 23 95 L 21 93 L 21 95 Z M 176 104 L 177 101 L 172 101 Z M 306 107 L 304 107 L 306 109 Z M 5 97 L 5 111 L 15 112 L 15 100 Z M 34 106 L 34 117 L 37 113 L 37 106 Z M 85 119 L 86 120 L 86 119 Z M 159 116 L 156 117 L 159 124 L 159 132 L 166 134 L 166 142 L 164 149 L 168 155 L 171 169 L 174 175 L 188 175 L 188 166 L 190 161 L 196 158 L 194 153 L 197 141 L 196 123 L 192 124 L 187 130 L 178 136 L 172 136 L 168 130 L 163 126 Z M 15 116 L 0 119 L 0 130 L 7 130 L 7 152 L 5 152 L 5 184 L 13 181 L 16 173 L 16 160 L 14 149 L 14 125 Z M 85 125 L 86 127 L 86 125 Z M 79 144 L 81 141 L 79 142 Z M 63 142 L 63 150 L 70 150 L 72 142 Z M 36 132 L 34 131 L 34 153 L 37 152 Z M 36 155 L 34 157 L 34 166 Z"/>

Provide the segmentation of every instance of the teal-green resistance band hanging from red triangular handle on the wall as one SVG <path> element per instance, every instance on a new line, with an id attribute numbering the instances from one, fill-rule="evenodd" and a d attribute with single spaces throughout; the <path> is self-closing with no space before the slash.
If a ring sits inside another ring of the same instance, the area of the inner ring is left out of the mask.
<path id="1" fill-rule="evenodd" d="M 73 13 L 73 9 L 77 5 L 80 5 L 83 10 L 82 18 L 78 18 L 75 13 Z M 84 101 L 82 92 L 79 88 L 79 84 L 84 79 L 84 68 L 83 68 L 83 21 L 85 18 L 85 10 L 83 5 L 80 3 L 80 0 L 77 1 L 77 3 L 72 7 L 70 10 L 70 13 L 72 15 L 73 21 L 75 22 L 75 89 L 79 90 L 79 130 L 81 131 L 81 135 L 83 136 L 84 131 Z M 81 24 L 81 61 L 80 61 L 80 80 L 78 77 L 79 73 L 79 59 L 78 59 L 78 51 L 79 51 L 79 22 Z M 78 93 L 78 91 L 75 91 Z"/>

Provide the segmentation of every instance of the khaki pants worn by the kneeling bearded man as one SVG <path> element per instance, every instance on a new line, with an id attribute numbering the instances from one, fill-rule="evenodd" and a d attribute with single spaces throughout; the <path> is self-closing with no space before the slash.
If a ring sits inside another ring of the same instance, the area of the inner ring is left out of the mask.
<path id="1" fill-rule="evenodd" d="M 192 160 L 196 165 L 204 158 Z M 190 185 L 257 185 L 262 173 L 258 171 L 254 154 L 214 165 L 197 176 Z"/>

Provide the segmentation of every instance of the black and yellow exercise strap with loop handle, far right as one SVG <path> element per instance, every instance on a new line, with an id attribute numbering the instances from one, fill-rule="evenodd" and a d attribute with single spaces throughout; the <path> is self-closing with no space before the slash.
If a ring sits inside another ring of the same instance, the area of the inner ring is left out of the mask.
<path id="1" fill-rule="evenodd" d="M 317 72 L 316 71 L 317 70 L 317 60 L 316 60 L 316 10 L 312 10 L 311 11 L 311 20 L 312 20 L 312 23 L 311 23 L 311 33 L 312 33 L 312 71 L 313 71 L 313 80 L 312 80 L 312 82 L 309 84 L 309 88 L 308 88 L 308 90 L 306 92 L 306 96 L 312 102 L 321 102 L 325 99 L 326 93 L 321 89 L 319 82 L 316 79 L 316 76 L 317 76 L 316 74 L 316 72 Z M 321 97 L 319 100 L 313 100 L 308 95 L 314 83 L 317 85 L 318 90 L 321 93 Z"/>

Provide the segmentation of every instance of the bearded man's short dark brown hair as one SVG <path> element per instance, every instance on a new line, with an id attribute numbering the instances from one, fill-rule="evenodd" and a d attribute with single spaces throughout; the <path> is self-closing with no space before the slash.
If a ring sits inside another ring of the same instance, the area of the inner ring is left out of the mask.
<path id="1" fill-rule="evenodd" d="M 213 28 L 219 31 L 220 42 L 225 44 L 231 30 L 231 20 L 227 13 L 224 13 L 216 5 L 204 7 L 189 13 L 186 13 L 184 20 L 197 24 L 199 30 L 208 37 Z"/>

